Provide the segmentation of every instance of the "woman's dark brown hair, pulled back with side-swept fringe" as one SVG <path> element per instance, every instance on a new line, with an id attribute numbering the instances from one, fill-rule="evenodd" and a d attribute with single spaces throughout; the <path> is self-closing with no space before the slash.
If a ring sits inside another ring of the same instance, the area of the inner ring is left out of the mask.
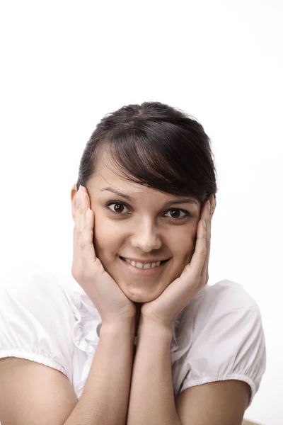
<path id="1" fill-rule="evenodd" d="M 144 102 L 105 115 L 83 151 L 77 188 L 91 179 L 105 148 L 115 172 L 129 181 L 195 196 L 200 203 L 216 195 L 209 137 L 195 118 L 176 108 Z"/>

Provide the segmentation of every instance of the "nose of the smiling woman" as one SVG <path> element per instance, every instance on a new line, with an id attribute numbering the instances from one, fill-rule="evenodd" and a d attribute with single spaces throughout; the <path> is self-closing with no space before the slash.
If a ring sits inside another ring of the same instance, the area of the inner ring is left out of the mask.
<path id="1" fill-rule="evenodd" d="M 144 252 L 160 249 L 162 242 L 157 226 L 149 220 L 139 222 L 132 233 L 132 246 Z"/>

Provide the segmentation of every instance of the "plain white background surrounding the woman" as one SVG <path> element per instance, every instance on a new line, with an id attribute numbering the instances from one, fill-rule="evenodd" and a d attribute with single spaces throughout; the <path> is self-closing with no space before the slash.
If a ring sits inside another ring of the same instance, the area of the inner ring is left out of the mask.
<path id="1" fill-rule="evenodd" d="M 283 2 L 3 1 L 1 270 L 71 267 L 71 186 L 98 120 L 161 101 L 212 139 L 210 283 L 262 312 L 267 371 L 246 417 L 283 423 Z"/>

